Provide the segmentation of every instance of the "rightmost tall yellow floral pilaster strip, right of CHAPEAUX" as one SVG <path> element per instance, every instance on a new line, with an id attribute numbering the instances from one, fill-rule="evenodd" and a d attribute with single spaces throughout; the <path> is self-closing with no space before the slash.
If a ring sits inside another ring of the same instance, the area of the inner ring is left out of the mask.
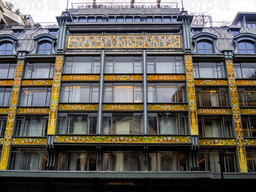
<path id="1" fill-rule="evenodd" d="M 245 155 L 244 137 L 243 137 L 243 131 L 242 131 L 233 61 L 226 60 L 226 65 L 227 65 L 227 77 L 228 77 L 232 110 L 233 110 L 233 121 L 234 121 L 234 126 L 236 131 L 236 143 L 237 143 L 237 151 L 239 156 L 240 170 L 241 172 L 245 172 L 243 170 L 247 170 L 247 162 L 246 162 L 246 155 Z"/>

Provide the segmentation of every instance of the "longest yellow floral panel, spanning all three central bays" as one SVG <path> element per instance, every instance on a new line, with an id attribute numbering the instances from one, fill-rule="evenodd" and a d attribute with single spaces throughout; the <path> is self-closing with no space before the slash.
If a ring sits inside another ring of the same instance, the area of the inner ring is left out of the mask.
<path id="1" fill-rule="evenodd" d="M 55 136 L 56 143 L 191 143 L 184 136 Z"/>

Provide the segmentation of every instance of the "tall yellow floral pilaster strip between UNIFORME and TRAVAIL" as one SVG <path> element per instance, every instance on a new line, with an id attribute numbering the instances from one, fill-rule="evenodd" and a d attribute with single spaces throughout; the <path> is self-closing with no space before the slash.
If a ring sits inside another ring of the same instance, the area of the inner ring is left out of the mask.
<path id="1" fill-rule="evenodd" d="M 55 61 L 55 70 L 53 76 L 52 84 L 52 99 L 49 112 L 49 122 L 48 122 L 48 135 L 53 135 L 55 132 L 56 116 L 58 111 L 58 98 L 61 85 L 61 69 L 63 64 L 63 55 L 57 55 Z"/>

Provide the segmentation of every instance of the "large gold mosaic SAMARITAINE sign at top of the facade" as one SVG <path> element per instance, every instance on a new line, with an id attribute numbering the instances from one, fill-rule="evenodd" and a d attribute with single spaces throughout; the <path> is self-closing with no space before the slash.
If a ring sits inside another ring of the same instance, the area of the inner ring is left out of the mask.
<path id="1" fill-rule="evenodd" d="M 76 35 L 67 48 L 180 48 L 180 35 Z"/>

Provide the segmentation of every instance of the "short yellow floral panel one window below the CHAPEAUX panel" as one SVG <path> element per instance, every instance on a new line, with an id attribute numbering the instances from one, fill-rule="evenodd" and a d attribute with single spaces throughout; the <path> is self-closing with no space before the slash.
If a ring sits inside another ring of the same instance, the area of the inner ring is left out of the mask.
<path id="1" fill-rule="evenodd" d="M 236 145 L 235 139 L 200 139 L 199 145 Z"/>

